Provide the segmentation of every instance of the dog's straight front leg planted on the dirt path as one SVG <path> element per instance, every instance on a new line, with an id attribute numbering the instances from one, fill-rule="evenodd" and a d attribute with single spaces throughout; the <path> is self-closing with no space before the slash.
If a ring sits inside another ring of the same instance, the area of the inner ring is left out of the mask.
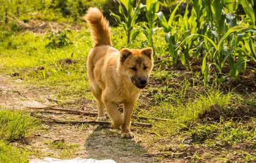
<path id="1" fill-rule="evenodd" d="M 126 139 L 132 139 L 134 137 L 130 130 L 130 122 L 134 105 L 135 102 L 133 101 L 124 102 L 124 123 L 122 125 L 122 137 Z"/>

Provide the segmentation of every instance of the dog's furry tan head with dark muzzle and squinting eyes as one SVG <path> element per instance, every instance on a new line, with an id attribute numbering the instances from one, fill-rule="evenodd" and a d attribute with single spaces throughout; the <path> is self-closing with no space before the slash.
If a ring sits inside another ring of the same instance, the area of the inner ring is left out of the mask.
<path id="1" fill-rule="evenodd" d="M 152 55 L 152 48 L 121 49 L 119 71 L 129 77 L 135 86 L 143 89 L 149 83 L 149 73 L 153 68 Z"/>

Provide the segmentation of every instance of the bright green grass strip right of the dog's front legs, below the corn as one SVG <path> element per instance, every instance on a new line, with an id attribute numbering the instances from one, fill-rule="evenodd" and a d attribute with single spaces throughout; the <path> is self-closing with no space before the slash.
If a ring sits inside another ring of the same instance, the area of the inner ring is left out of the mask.
<path id="1" fill-rule="evenodd" d="M 157 94 L 161 94 L 164 90 L 159 88 Z M 211 92 L 211 93 L 210 93 Z M 154 95 L 153 95 L 154 96 Z M 176 91 L 170 91 L 167 94 L 161 94 L 167 101 L 156 99 L 156 105 L 150 107 L 149 110 L 135 108 L 135 114 L 138 116 L 148 116 L 169 119 L 169 122 L 151 121 L 153 128 L 150 130 L 157 135 L 170 137 L 179 132 L 184 126 L 197 122 L 198 114 L 210 110 L 210 105 L 219 103 L 223 112 L 227 112 L 230 103 L 241 103 L 242 99 L 234 92 L 222 93 L 220 90 L 210 89 L 206 95 L 200 92 L 194 92 L 193 98 L 176 95 Z"/>

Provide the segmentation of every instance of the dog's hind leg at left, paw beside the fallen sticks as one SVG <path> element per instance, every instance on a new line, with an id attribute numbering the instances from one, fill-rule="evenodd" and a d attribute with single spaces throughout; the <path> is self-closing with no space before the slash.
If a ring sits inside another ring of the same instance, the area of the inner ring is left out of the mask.
<path id="1" fill-rule="evenodd" d="M 97 107 L 98 107 L 97 120 L 98 121 L 106 121 L 107 118 L 105 116 L 104 104 L 101 99 L 102 90 L 100 89 L 99 85 L 97 85 L 96 82 L 91 82 L 90 84 L 91 84 L 93 95 L 97 99 Z"/>

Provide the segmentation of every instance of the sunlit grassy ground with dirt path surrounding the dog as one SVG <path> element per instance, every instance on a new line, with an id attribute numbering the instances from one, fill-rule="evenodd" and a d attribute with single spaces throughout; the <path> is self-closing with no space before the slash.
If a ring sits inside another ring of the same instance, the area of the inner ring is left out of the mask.
<path id="1" fill-rule="evenodd" d="M 159 60 L 136 103 L 133 115 L 138 118 L 132 120 L 152 127 L 132 126 L 135 139 L 121 139 L 120 130 L 106 125 L 49 124 L 29 116 L 33 112 L 66 121 L 96 119 L 27 108 L 96 109 L 86 68 L 92 48 L 89 29 L 79 20 L 79 12 L 65 17 L 56 8 L 44 9 L 50 4 L 43 2 L 38 7 L 21 2 L 17 14 L 17 9 L 4 8 L 16 1 L 1 1 L 0 17 L 5 23 L 0 31 L 0 162 L 44 156 L 117 162 L 256 161 L 255 61 L 248 61 L 236 78 L 212 75 L 213 84 L 205 85 L 203 58 L 199 63 L 192 59 L 187 67 L 179 60 L 175 66 L 170 64 L 162 30 L 153 35 Z M 127 46 L 123 28 L 112 27 L 112 41 L 117 49 Z M 150 45 L 141 32 L 129 46 Z"/>

